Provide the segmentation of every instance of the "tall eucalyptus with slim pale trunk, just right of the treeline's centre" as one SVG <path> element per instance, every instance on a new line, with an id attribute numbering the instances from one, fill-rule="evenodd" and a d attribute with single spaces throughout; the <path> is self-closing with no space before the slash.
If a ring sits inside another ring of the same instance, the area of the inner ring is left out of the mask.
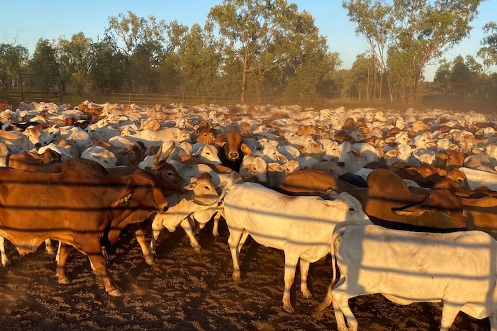
<path id="1" fill-rule="evenodd" d="M 247 86 L 252 86 L 252 94 L 260 98 L 266 77 L 273 70 L 284 73 L 285 66 L 303 63 L 307 40 L 320 38 L 314 17 L 299 12 L 295 3 L 286 0 L 224 0 L 211 8 L 208 20 L 222 38 L 225 61 L 229 63 L 226 68 L 239 65 L 242 102 Z"/>

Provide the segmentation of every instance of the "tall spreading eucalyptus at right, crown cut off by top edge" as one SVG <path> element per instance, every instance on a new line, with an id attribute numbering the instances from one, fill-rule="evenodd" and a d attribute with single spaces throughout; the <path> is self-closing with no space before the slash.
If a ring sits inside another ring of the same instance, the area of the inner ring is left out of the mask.
<path id="1" fill-rule="evenodd" d="M 410 73 L 408 99 L 418 99 L 419 82 L 427 63 L 439 59 L 457 45 L 471 31 L 471 21 L 477 15 L 482 0 L 350 0 L 344 1 L 353 22 L 371 23 L 371 29 L 360 33 L 371 33 L 379 29 L 379 36 L 387 41 L 388 56 L 395 56 L 396 69 Z M 388 22 L 378 27 L 376 12 L 381 20 Z M 369 25 L 367 25 L 369 27 Z M 367 37 L 368 38 L 368 37 Z M 383 39 L 381 39 L 383 40 Z M 376 40 L 375 40 L 376 41 Z M 409 70 L 399 66 L 408 64 Z M 388 68 L 392 72 L 392 68 Z M 397 73 L 397 78 L 401 73 Z M 406 88 L 404 88 L 406 91 Z"/>

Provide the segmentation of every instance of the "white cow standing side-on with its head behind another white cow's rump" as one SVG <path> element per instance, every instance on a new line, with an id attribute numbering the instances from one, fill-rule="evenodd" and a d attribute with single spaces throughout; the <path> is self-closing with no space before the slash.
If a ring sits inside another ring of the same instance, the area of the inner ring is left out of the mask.
<path id="1" fill-rule="evenodd" d="M 338 222 L 371 223 L 359 201 L 342 193 L 335 200 L 289 197 L 255 183 L 229 187 L 224 197 L 224 219 L 229 229 L 233 279 L 240 280 L 238 256 L 250 234 L 257 243 L 283 249 L 285 255 L 283 309 L 293 312 L 290 288 L 300 259 L 300 290 L 305 298 L 309 263 L 330 252 L 333 229 Z"/>

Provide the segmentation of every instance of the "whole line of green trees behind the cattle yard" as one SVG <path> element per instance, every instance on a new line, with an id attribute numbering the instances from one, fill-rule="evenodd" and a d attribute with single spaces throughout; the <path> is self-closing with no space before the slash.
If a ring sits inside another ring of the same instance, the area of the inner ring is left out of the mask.
<path id="1" fill-rule="evenodd" d="M 495 98 L 497 25 L 484 28 L 472 56 L 443 61 L 433 84 L 425 64 L 468 36 L 481 0 L 344 1 L 356 33 L 369 49 L 350 70 L 319 34 L 314 17 L 286 0 L 224 0 L 204 26 L 153 16 L 109 17 L 102 38 L 83 32 L 70 40 L 40 38 L 26 47 L 0 44 L 0 89 L 63 91 L 77 95 L 162 93 L 269 98 L 352 98 L 411 103 L 422 95 Z M 332 13 L 330 13 L 332 17 Z M 23 73 L 23 75 L 20 75 Z M 29 74 L 29 75 L 26 75 Z"/>

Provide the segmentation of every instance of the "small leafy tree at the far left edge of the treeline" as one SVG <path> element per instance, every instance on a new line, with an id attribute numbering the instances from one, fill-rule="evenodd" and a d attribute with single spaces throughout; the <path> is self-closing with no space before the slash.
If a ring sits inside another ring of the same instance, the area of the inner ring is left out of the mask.
<path id="1" fill-rule="evenodd" d="M 28 59 L 26 47 L 0 44 L 0 89 L 17 88 L 19 73 L 26 67 Z"/>

